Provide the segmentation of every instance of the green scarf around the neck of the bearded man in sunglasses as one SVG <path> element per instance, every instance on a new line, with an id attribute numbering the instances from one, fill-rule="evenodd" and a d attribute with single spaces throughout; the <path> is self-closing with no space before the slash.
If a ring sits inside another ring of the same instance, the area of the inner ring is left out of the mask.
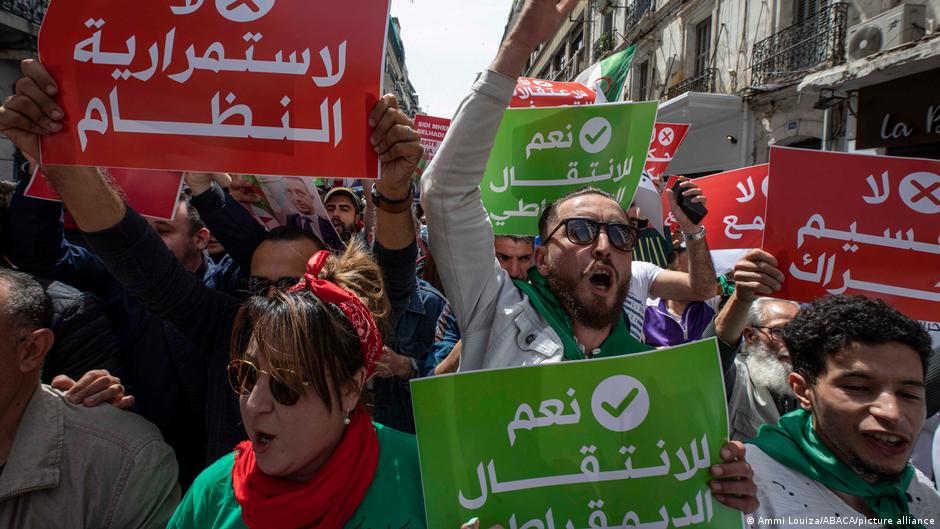
<path id="1" fill-rule="evenodd" d="M 540 274 L 535 267 L 529 269 L 529 281 L 513 279 L 513 283 L 519 287 L 525 295 L 529 296 L 529 302 L 535 307 L 535 311 L 545 318 L 549 326 L 561 337 L 561 343 L 565 348 L 565 360 L 583 360 L 584 351 L 574 337 L 574 326 L 568 313 L 558 303 L 558 298 L 548 288 L 548 281 L 545 276 Z M 610 331 L 610 335 L 601 344 L 600 351 L 594 355 L 594 358 L 606 356 L 620 356 L 642 351 L 650 351 L 652 348 L 641 343 L 627 329 L 627 324 L 623 318 L 617 319 L 617 324 Z"/>

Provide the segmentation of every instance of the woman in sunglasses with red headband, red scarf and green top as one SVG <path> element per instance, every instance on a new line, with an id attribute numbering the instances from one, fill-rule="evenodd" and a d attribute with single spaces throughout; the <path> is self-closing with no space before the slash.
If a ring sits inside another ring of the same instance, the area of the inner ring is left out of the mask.
<path id="1" fill-rule="evenodd" d="M 250 440 L 196 479 L 168 528 L 425 527 L 415 438 L 359 404 L 388 303 L 351 248 L 239 310 L 228 373 Z"/>

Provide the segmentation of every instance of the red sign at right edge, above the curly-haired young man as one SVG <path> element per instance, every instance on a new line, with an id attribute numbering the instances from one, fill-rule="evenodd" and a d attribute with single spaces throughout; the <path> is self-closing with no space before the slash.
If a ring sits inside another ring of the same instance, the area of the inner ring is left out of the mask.
<path id="1" fill-rule="evenodd" d="M 940 314 L 940 162 L 774 147 L 764 250 L 782 298 L 882 298 Z M 710 240 L 710 238 L 709 238 Z"/>

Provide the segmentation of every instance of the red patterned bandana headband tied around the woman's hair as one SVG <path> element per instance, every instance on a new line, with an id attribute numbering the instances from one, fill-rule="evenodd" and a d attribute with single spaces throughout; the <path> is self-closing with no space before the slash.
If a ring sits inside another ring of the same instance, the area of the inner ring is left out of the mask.
<path id="1" fill-rule="evenodd" d="M 303 279 L 288 292 L 309 290 L 321 300 L 336 305 L 346 315 L 346 319 L 356 329 L 356 334 L 359 336 L 362 360 L 365 363 L 366 378 L 368 378 L 375 372 L 375 363 L 382 354 L 382 335 L 375 324 L 375 319 L 372 318 L 372 313 L 362 300 L 336 283 L 318 277 L 329 256 L 330 252 L 326 250 L 315 253 L 307 261 L 307 273 L 304 274 Z"/>

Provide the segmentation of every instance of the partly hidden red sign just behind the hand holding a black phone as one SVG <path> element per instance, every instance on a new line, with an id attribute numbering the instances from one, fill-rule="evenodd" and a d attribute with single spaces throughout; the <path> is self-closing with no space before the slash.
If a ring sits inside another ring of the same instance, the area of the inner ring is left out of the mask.
<path id="1" fill-rule="evenodd" d="M 695 183 L 708 197 L 708 215 L 702 221 L 712 250 L 760 248 L 767 208 L 768 165 L 744 167 L 696 178 Z M 672 186 L 670 178 L 668 186 Z M 675 219 L 663 194 L 666 225 Z"/>

